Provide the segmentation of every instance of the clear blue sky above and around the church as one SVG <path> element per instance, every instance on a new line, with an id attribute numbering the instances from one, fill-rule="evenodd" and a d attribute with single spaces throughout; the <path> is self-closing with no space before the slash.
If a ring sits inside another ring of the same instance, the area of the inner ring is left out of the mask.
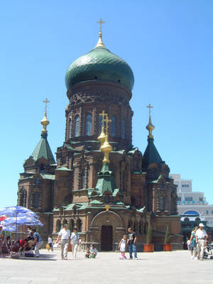
<path id="1" fill-rule="evenodd" d="M 18 174 L 40 140 L 65 138 L 67 67 L 103 41 L 131 66 L 133 145 L 144 153 L 153 105 L 155 146 L 170 173 L 193 180 L 213 204 L 212 0 L 0 1 L 0 207 L 16 204 Z"/>

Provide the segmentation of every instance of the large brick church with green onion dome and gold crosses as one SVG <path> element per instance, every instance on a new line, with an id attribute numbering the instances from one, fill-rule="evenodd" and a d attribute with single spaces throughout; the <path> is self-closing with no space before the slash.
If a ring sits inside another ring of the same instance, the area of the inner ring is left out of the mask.
<path id="1" fill-rule="evenodd" d="M 77 227 L 82 249 L 95 244 L 99 251 L 115 251 L 131 226 L 141 251 L 151 226 L 160 250 L 168 226 L 178 249 L 177 187 L 155 148 L 151 105 L 141 153 L 132 145 L 133 72 L 104 45 L 102 19 L 99 23 L 97 45 L 72 62 L 65 76 L 65 141 L 56 156 L 48 143 L 45 100 L 40 141 L 18 180 L 18 205 L 40 216 L 43 239 L 50 234 L 55 239 L 67 223 L 71 231 Z"/>

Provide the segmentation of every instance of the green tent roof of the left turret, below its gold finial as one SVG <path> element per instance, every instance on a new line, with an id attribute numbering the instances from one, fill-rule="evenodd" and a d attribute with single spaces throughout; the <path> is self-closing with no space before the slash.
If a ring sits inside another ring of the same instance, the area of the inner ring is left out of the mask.
<path id="1" fill-rule="evenodd" d="M 48 143 L 48 134 L 47 133 L 41 133 L 40 141 L 38 142 L 37 146 L 35 147 L 35 150 L 32 153 L 33 160 L 38 160 L 40 158 L 45 158 L 48 160 L 50 164 L 55 163 L 55 159 L 53 157 L 53 153 L 50 149 L 50 145 Z"/>

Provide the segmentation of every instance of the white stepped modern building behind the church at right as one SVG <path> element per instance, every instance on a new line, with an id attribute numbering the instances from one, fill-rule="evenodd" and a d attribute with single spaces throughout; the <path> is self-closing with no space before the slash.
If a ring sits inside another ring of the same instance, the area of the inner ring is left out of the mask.
<path id="1" fill-rule="evenodd" d="M 170 174 L 178 192 L 178 213 L 180 215 L 199 216 L 207 221 L 207 226 L 213 227 L 213 204 L 209 204 L 204 192 L 192 191 L 192 180 L 182 180 L 180 175 Z"/>

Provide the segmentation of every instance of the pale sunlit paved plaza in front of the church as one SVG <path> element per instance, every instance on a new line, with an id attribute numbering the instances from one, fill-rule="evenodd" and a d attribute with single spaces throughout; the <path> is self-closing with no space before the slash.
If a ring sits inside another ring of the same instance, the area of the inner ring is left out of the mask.
<path id="1" fill-rule="evenodd" d="M 213 260 L 193 261 L 188 251 L 138 253 L 138 260 L 119 260 L 119 253 L 60 260 L 60 251 L 41 250 L 40 258 L 0 258 L 0 283 L 16 284 L 212 284 Z"/>

